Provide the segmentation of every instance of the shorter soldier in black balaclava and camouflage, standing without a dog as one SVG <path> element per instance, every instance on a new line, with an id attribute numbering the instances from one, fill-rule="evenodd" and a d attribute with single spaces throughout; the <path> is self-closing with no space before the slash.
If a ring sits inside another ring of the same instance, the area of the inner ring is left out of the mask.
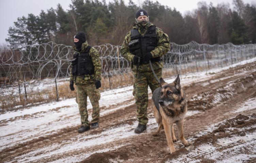
<path id="1" fill-rule="evenodd" d="M 91 128 L 98 127 L 99 99 L 101 87 L 101 63 L 98 51 L 89 46 L 85 34 L 79 32 L 74 37 L 74 50 L 76 51 L 71 61 L 70 89 L 74 91 L 74 82 L 77 86 L 77 103 L 81 115 L 82 126 L 78 132 L 90 129 L 87 113 L 87 96 L 93 106 Z"/>

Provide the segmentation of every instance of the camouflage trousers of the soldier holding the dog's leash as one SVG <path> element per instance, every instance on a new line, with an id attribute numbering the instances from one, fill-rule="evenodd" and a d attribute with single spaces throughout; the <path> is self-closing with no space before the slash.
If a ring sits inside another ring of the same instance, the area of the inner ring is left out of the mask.
<path id="1" fill-rule="evenodd" d="M 158 79 L 160 79 L 162 76 L 162 68 L 154 71 Z M 136 72 L 133 71 L 133 75 L 134 75 L 134 85 L 133 85 L 132 94 L 135 97 L 137 118 L 138 118 L 139 124 L 146 125 L 148 122 L 148 118 L 147 118 L 148 85 L 152 93 L 160 85 L 152 71 L 138 72 L 137 78 L 135 78 Z"/>

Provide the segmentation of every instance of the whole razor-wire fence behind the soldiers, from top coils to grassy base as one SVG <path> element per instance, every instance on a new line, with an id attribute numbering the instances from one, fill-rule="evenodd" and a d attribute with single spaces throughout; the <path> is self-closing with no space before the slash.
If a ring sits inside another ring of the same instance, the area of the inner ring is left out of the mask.
<path id="1" fill-rule="evenodd" d="M 99 51 L 102 64 L 102 88 L 130 85 L 133 74 L 130 62 L 122 57 L 121 46 L 105 44 L 94 46 Z M 22 48 L 0 49 L 0 100 L 1 109 L 29 102 L 28 92 L 44 92 L 55 87 L 55 95 L 50 91 L 45 99 L 59 100 L 58 85 L 68 81 L 70 60 L 74 50 L 71 46 L 49 42 Z M 171 50 L 162 56 L 163 76 L 201 71 L 213 67 L 223 67 L 256 56 L 256 44 L 198 44 L 185 45 L 171 43 Z M 68 87 L 66 85 L 66 87 Z M 30 97 L 34 94 L 31 93 Z M 50 98 L 51 96 L 51 98 Z M 16 101 L 16 102 L 12 102 Z M 18 102 L 19 101 L 19 102 Z M 36 100 L 40 102 L 40 100 Z"/>

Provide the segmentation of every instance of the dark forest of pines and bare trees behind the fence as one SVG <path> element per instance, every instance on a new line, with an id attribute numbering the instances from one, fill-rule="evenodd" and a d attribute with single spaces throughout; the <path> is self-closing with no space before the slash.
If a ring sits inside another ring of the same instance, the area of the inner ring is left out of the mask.
<path id="1" fill-rule="evenodd" d="M 121 45 L 135 22 L 136 11 L 143 8 L 148 12 L 149 21 L 176 44 L 192 40 L 207 44 L 255 44 L 256 4 L 233 0 L 233 6 L 231 9 L 228 3 L 213 6 L 202 1 L 197 9 L 182 16 L 175 8 L 150 0 L 143 1 L 141 6 L 131 0 L 128 4 L 123 0 L 109 4 L 98 0 L 72 0 L 67 11 L 58 4 L 57 9 L 17 18 L 8 30 L 6 42 L 15 47 L 49 41 L 73 46 L 74 35 L 83 31 L 90 45 Z"/>

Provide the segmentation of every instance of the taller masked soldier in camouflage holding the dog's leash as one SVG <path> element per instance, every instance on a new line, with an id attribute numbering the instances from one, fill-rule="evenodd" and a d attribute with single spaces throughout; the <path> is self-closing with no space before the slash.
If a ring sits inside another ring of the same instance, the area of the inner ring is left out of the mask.
<path id="1" fill-rule="evenodd" d="M 133 96 L 139 121 L 134 132 L 141 133 L 146 130 L 148 122 L 148 85 L 152 92 L 159 87 L 150 68 L 149 60 L 160 79 L 163 68 L 160 57 L 170 50 L 170 40 L 167 34 L 149 22 L 147 11 L 138 10 L 135 18 L 136 23 L 133 25 L 133 29 L 126 34 L 121 53 L 131 62 L 134 75 Z"/>

